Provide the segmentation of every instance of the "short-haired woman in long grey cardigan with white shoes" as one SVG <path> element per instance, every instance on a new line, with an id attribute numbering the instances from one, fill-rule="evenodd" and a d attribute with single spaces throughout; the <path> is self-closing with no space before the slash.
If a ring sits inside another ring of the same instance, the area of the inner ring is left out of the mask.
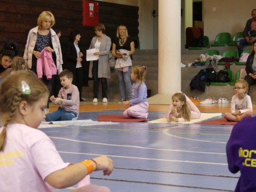
<path id="1" fill-rule="evenodd" d="M 90 61 L 89 77 L 93 77 L 93 101 L 98 102 L 99 85 L 101 82 L 102 102 L 108 102 L 108 82 L 110 78 L 109 50 L 111 39 L 105 34 L 105 26 L 101 23 L 94 26 L 95 34 L 92 38 L 89 49 L 95 49 L 94 55 L 97 59 Z"/>

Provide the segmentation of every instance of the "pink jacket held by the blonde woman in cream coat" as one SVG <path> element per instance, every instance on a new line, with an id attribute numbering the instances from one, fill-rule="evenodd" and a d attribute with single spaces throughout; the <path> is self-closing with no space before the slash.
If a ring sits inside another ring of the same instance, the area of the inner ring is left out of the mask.
<path id="1" fill-rule="evenodd" d="M 47 79 L 51 79 L 52 75 L 57 74 L 57 68 L 52 60 L 52 52 L 41 51 L 41 58 L 37 59 L 36 73 L 39 79 L 46 75 Z"/>

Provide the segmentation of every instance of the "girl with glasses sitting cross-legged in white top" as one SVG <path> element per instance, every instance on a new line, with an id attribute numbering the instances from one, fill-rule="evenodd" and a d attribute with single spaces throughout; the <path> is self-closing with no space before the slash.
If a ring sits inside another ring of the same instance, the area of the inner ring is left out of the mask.
<path id="1" fill-rule="evenodd" d="M 225 113 L 224 118 L 228 121 L 239 122 L 244 117 L 252 117 L 252 100 L 246 94 L 248 83 L 245 80 L 237 81 L 233 87 L 235 95 L 231 100 L 230 113 Z"/>

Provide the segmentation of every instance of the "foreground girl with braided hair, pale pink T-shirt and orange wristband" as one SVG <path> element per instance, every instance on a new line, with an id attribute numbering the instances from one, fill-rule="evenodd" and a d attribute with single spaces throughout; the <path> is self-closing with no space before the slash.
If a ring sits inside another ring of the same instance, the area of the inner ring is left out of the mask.
<path id="1" fill-rule="evenodd" d="M 53 187 L 71 187 L 93 171 L 101 170 L 103 175 L 113 171 L 107 156 L 63 162 L 52 140 L 37 129 L 48 98 L 49 90 L 32 71 L 14 71 L 0 86 L 1 191 L 49 192 Z M 95 185 L 72 191 L 110 192 Z"/>

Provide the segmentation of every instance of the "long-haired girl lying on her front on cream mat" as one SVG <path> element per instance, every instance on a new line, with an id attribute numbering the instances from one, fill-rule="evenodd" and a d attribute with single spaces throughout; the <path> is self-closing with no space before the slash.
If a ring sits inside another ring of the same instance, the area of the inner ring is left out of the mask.
<path id="1" fill-rule="evenodd" d="M 172 95 L 172 104 L 165 114 L 167 122 L 185 122 L 201 117 L 196 105 L 184 93 Z"/>

